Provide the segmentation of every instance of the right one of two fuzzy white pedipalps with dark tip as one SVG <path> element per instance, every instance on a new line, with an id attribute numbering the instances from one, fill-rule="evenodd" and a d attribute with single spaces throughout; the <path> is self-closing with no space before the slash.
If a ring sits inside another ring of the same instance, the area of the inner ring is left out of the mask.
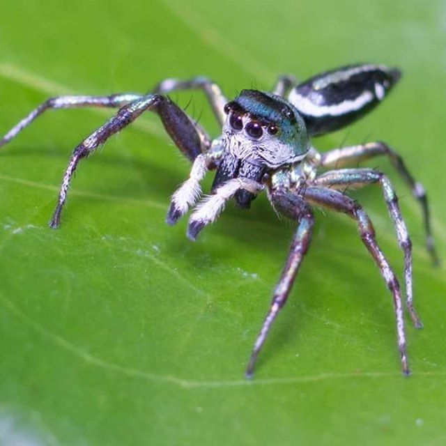
<path id="1" fill-rule="evenodd" d="M 261 183 L 243 177 L 233 178 L 224 185 L 217 187 L 214 194 L 199 203 L 194 213 L 192 213 L 187 226 L 187 238 L 196 240 L 201 229 L 217 220 L 226 201 L 231 199 L 238 190 L 247 190 L 252 194 L 259 194 L 263 188 L 264 186 Z"/>

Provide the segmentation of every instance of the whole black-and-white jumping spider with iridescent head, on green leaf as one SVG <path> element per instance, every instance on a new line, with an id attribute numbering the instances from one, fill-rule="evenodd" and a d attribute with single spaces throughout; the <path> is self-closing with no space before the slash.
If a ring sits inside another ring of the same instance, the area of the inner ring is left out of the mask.
<path id="1" fill-rule="evenodd" d="M 256 195 L 266 190 L 277 213 L 295 220 L 297 229 L 284 270 L 275 287 L 270 310 L 254 344 L 247 377 L 253 374 L 257 356 L 272 322 L 289 296 L 295 275 L 309 247 L 314 224 L 312 206 L 345 213 L 356 220 L 362 241 L 392 293 L 401 364 L 403 373 L 409 374 L 399 282 L 376 243 L 374 227 L 364 208 L 344 192 L 347 188 L 374 183 L 382 188 L 404 254 L 408 312 L 415 327 L 421 328 L 422 323 L 413 306 L 412 247 L 397 194 L 387 176 L 376 169 L 339 167 L 356 165 L 360 160 L 377 155 L 389 157 L 420 202 L 427 249 L 433 262 L 437 263 L 424 188 L 415 182 L 401 157 L 383 142 L 335 148 L 327 153 L 318 153 L 312 145 L 312 137 L 343 128 L 376 107 L 400 76 L 399 70 L 385 66 L 346 66 L 324 72 L 297 85 L 293 77 L 282 76 L 272 93 L 243 90 L 230 102 L 220 87 L 205 77 L 187 81 L 166 79 L 146 95 L 60 96 L 47 100 L 33 110 L 0 140 L 0 146 L 13 139 L 47 109 L 118 108 L 115 116 L 75 148 L 63 176 L 56 210 L 49 223 L 52 228 L 59 226 L 68 186 L 79 161 L 146 111 L 160 116 L 176 146 L 192 162 L 190 177 L 172 196 L 167 214 L 167 223 L 175 224 L 190 208 L 194 208 L 187 229 L 187 236 L 191 240 L 197 238 L 204 226 L 217 219 L 227 200 L 234 198 L 238 206 L 249 208 Z M 210 139 L 200 125 L 165 95 L 184 89 L 202 89 L 206 93 L 215 117 L 222 126 L 219 137 Z M 200 182 L 208 170 L 216 171 L 211 194 L 196 205 L 201 196 Z"/>

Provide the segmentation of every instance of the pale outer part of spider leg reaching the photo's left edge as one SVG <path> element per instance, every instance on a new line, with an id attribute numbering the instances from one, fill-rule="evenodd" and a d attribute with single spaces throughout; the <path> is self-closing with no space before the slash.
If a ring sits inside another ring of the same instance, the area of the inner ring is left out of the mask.
<path id="1" fill-rule="evenodd" d="M 31 124 L 38 116 L 49 109 L 71 109 L 80 107 L 122 107 L 129 102 L 141 98 L 141 95 L 134 93 L 118 93 L 109 96 L 84 96 L 65 95 L 50 98 L 40 104 L 36 109 L 17 123 L 6 135 L 0 139 L 0 147 L 15 138 L 25 127 Z"/>

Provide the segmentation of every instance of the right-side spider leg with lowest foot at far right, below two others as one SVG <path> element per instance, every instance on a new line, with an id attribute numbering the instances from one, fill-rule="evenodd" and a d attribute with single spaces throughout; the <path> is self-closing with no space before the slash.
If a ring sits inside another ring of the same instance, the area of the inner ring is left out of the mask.
<path id="1" fill-rule="evenodd" d="M 306 201 L 314 204 L 315 206 L 321 206 L 336 212 L 345 213 L 357 221 L 362 242 L 369 250 L 371 256 L 373 256 L 376 265 L 380 269 L 381 275 L 383 275 L 383 278 L 385 279 L 387 288 L 392 293 L 394 312 L 397 319 L 397 339 L 399 355 L 401 357 L 401 365 L 403 373 L 409 375 L 410 371 L 406 350 L 406 333 L 404 328 L 403 307 L 399 282 L 397 276 L 378 246 L 374 226 L 371 224 L 369 216 L 365 212 L 364 208 L 357 203 L 357 201 L 347 197 L 337 190 L 326 189 L 325 187 L 307 187 L 304 192 L 304 198 Z"/>

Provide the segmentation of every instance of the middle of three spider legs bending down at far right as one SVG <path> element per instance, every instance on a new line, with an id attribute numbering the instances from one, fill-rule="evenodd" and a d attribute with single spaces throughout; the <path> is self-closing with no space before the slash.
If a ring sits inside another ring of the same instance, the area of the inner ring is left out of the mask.
<path id="1" fill-rule="evenodd" d="M 406 223 L 401 215 L 397 194 L 389 178 L 382 172 L 374 169 L 339 169 L 328 171 L 318 176 L 312 184 L 334 189 L 343 189 L 349 185 L 353 187 L 364 187 L 372 183 L 380 183 L 383 189 L 385 203 L 387 204 L 387 209 L 389 210 L 395 231 L 397 232 L 398 243 L 404 253 L 404 279 L 406 283 L 407 307 L 415 328 L 422 328 L 423 324 L 413 306 L 412 242 L 408 235 Z"/>

